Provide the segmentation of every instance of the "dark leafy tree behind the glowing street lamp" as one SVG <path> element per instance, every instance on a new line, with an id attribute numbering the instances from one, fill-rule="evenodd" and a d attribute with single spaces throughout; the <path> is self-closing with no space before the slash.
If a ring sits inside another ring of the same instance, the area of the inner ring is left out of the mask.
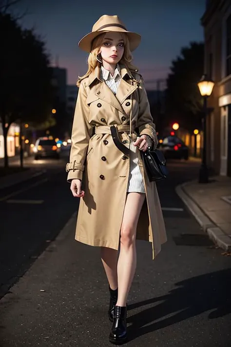
<path id="1" fill-rule="evenodd" d="M 204 44 L 191 42 L 172 61 L 167 78 L 166 108 L 168 120 L 191 130 L 200 125 L 202 99 L 197 82 L 204 71 Z"/>

